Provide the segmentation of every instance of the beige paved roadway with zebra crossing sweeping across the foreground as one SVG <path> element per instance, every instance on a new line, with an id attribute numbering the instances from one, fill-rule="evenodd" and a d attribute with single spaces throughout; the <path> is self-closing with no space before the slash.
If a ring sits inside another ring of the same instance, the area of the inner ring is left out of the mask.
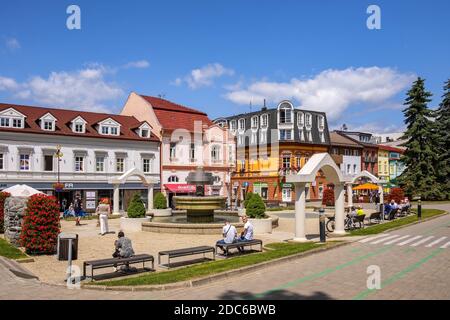
<path id="1" fill-rule="evenodd" d="M 67 290 L 18 279 L 0 266 L 0 299 L 450 299 L 450 215 L 369 239 L 226 281 L 161 292 Z M 367 289 L 374 266 L 380 290 Z"/>

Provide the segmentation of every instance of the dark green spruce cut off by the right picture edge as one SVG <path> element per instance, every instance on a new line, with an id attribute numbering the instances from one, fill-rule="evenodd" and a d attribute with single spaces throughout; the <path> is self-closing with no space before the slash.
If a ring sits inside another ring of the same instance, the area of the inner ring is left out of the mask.
<path id="1" fill-rule="evenodd" d="M 438 146 L 437 179 L 443 199 L 450 199 L 450 79 L 444 84 L 444 94 L 436 110 Z"/>

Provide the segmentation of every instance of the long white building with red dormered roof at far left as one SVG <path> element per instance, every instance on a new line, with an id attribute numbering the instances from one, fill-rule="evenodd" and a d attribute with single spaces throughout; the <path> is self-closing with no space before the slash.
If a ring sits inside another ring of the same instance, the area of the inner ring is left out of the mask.
<path id="1" fill-rule="evenodd" d="M 159 188 L 159 148 L 150 124 L 134 117 L 0 104 L 0 190 L 27 184 L 56 195 L 62 209 L 76 195 L 87 211 L 101 198 L 113 200 L 113 181 L 119 209 L 135 192 L 147 202 L 150 189 L 142 181 Z M 58 175 L 64 189 L 56 192 Z"/>

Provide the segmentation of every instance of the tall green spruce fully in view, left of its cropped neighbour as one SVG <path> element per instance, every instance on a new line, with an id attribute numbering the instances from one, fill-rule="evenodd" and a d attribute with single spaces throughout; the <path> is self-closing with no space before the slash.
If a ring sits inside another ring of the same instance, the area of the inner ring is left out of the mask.
<path id="1" fill-rule="evenodd" d="M 399 184 L 409 196 L 420 195 L 422 199 L 440 198 L 435 165 L 438 154 L 434 134 L 433 111 L 428 108 L 432 94 L 425 90 L 425 81 L 418 78 L 407 93 L 403 110 L 406 131 L 402 139 L 406 147 L 401 161 L 405 171 L 398 178 Z"/>

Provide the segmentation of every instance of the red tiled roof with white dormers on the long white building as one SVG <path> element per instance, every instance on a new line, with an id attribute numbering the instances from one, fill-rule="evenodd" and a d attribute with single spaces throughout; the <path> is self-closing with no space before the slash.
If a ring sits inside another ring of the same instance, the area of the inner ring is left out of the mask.
<path id="1" fill-rule="evenodd" d="M 141 122 L 135 117 L 121 116 L 116 114 L 107 113 L 96 113 L 96 112 L 83 112 L 76 110 L 64 110 L 64 109 L 54 109 L 54 108 L 42 108 L 34 106 L 23 106 L 9 103 L 0 103 L 0 111 L 13 108 L 18 112 L 24 114 L 25 118 L 25 128 L 4 128 L 0 127 L 1 131 L 9 132 L 26 132 L 26 133 L 38 133 L 38 134 L 56 134 L 63 136 L 76 136 L 76 137 L 91 137 L 91 138 L 102 138 L 102 139 L 119 139 L 119 140 L 138 140 L 138 141 L 159 141 L 155 136 L 149 138 L 141 138 L 135 131 L 141 125 Z M 56 128 L 55 131 L 45 131 L 41 129 L 39 119 L 50 112 L 56 118 Z M 76 117 L 81 116 L 86 120 L 86 132 L 85 133 L 75 133 L 71 128 L 71 121 Z M 106 120 L 108 118 L 117 121 L 120 127 L 119 136 L 102 135 L 98 133 L 95 128 L 96 124 Z"/>

